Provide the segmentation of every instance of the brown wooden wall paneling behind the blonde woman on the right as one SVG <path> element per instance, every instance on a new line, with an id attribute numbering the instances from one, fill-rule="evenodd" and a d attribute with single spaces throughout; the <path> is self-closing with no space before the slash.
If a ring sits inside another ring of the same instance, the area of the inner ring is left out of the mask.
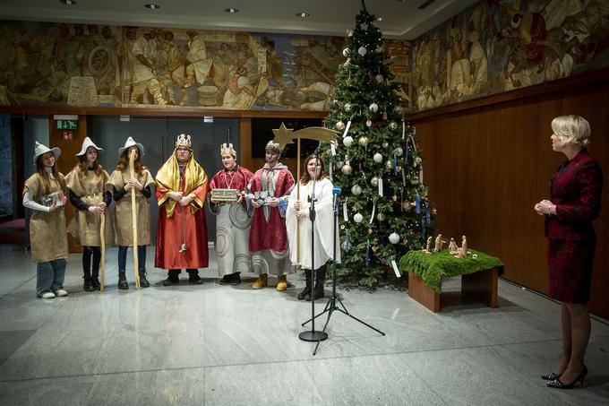
<path id="1" fill-rule="evenodd" d="M 605 170 L 605 209 L 596 220 L 597 249 L 593 272 L 592 312 L 609 317 L 609 78 L 574 79 L 570 88 L 548 93 L 528 89 L 522 98 L 473 108 L 417 113 L 409 117 L 424 156 L 425 183 L 438 209 L 437 227 L 446 238 L 466 235 L 469 246 L 499 256 L 504 277 L 547 293 L 547 241 L 544 220 L 533 205 L 549 195 L 549 179 L 562 154 L 552 151 L 553 117 L 578 114 L 592 126 L 589 151 Z M 583 83 L 583 84 L 582 84 Z M 545 86 L 547 89 L 547 86 Z M 496 97 L 494 98 L 496 99 Z"/>

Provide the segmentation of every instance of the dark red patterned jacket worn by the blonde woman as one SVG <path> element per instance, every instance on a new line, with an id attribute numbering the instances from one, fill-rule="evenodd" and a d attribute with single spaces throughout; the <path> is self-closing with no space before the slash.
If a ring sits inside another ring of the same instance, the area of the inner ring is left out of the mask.
<path id="1" fill-rule="evenodd" d="M 601 211 L 603 172 L 586 149 L 563 162 L 550 180 L 556 215 L 545 216 L 545 237 L 579 241 L 594 236 L 592 220 Z"/>

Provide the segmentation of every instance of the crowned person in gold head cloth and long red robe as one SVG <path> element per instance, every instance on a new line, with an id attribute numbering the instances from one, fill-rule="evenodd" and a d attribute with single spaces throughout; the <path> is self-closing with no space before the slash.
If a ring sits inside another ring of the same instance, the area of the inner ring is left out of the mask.
<path id="1" fill-rule="evenodd" d="M 207 268 L 207 224 L 203 203 L 207 194 L 207 175 L 194 160 L 190 135 L 179 134 L 176 149 L 159 169 L 156 177 L 159 201 L 157 254 L 154 266 L 167 269 L 163 285 L 179 283 L 182 269 L 188 281 L 201 284 L 198 268 Z"/>

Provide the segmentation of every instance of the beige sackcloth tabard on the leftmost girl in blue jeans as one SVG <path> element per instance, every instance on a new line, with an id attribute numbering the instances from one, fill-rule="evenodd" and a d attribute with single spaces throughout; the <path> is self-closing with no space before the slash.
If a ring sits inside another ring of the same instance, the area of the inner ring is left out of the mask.
<path id="1" fill-rule="evenodd" d="M 64 177 L 61 173 L 59 177 Z M 51 179 L 48 194 L 59 192 L 61 186 L 56 179 Z M 47 194 L 42 177 L 35 173 L 25 181 L 23 194 L 31 192 L 33 200 L 39 202 L 40 197 Z M 66 191 L 64 191 L 65 194 Z M 46 263 L 56 259 L 67 259 L 68 239 L 65 231 L 64 207 L 54 212 L 40 212 L 34 210 L 30 219 L 30 245 L 31 256 L 35 263 Z"/>

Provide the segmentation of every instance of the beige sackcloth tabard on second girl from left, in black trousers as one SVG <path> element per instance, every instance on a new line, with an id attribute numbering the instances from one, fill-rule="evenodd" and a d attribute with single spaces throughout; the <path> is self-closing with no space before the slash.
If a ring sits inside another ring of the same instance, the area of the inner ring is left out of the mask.
<path id="1" fill-rule="evenodd" d="M 104 186 L 108 179 L 105 170 L 101 177 L 98 177 L 92 170 L 87 171 L 86 177 L 81 177 L 81 171 L 76 167 L 65 177 L 65 186 L 73 194 L 76 194 L 82 202 L 89 205 L 98 205 L 104 201 Z M 106 217 L 104 239 L 106 244 L 110 244 L 112 238 L 110 211 L 104 212 L 104 216 Z M 101 229 L 101 216 L 98 213 L 82 210 L 74 212 L 74 216 L 68 225 L 68 232 L 83 246 L 101 246 L 99 229 Z"/>

